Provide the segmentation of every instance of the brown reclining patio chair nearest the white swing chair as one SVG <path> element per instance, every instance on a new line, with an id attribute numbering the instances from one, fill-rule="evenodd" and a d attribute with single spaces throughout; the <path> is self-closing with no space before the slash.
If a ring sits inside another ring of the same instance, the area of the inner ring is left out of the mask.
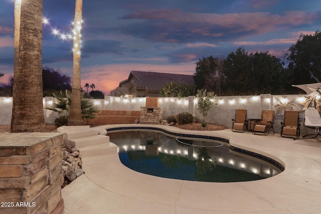
<path id="1" fill-rule="evenodd" d="M 298 111 L 285 111 L 284 121 L 281 122 L 281 137 L 298 138 L 300 123 Z"/>

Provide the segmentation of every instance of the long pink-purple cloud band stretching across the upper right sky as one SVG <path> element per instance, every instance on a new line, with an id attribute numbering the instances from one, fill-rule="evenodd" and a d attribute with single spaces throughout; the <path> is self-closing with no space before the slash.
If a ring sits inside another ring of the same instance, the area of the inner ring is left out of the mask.
<path id="1" fill-rule="evenodd" d="M 256 7 L 263 7 L 268 4 L 267 1 L 258 2 Z M 310 24 L 318 20 L 316 12 L 290 11 L 283 15 L 271 13 L 234 13 L 234 14 L 201 14 L 201 13 L 183 13 L 180 10 L 145 10 L 139 11 L 127 16 L 129 19 L 144 20 L 168 20 L 172 23 L 182 26 L 193 26 L 192 32 L 198 32 L 201 35 L 208 36 L 208 29 L 220 28 L 228 30 L 227 33 L 239 33 L 253 31 L 257 33 L 271 32 L 284 25 L 299 26 Z M 172 26 L 169 25 L 168 28 Z M 199 27 L 198 27 L 199 26 Z M 218 32 L 222 34 L 221 32 Z M 164 36 L 164 35 L 163 35 Z M 159 35 L 162 37 L 162 35 Z M 163 37 L 162 37 L 163 38 Z M 175 42 L 175 41 L 173 41 Z"/>

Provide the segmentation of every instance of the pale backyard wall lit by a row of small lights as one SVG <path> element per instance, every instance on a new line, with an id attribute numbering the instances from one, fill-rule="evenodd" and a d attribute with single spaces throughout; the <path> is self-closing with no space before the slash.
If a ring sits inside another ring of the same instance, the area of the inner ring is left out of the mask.
<path id="1" fill-rule="evenodd" d="M 261 118 L 261 111 L 265 109 L 274 110 L 273 119 L 274 129 L 280 131 L 280 122 L 283 121 L 284 109 L 300 111 L 301 121 L 303 121 L 304 95 L 270 95 L 261 94 L 258 96 L 224 96 L 217 97 L 218 105 L 208 112 L 207 123 L 224 125 L 227 128 L 232 126 L 232 118 L 235 117 L 235 109 L 246 109 L 247 118 Z M 201 122 L 203 116 L 198 111 L 195 96 L 182 99 L 178 98 L 159 98 L 159 107 L 163 108 L 163 119 L 169 115 L 176 115 L 187 111 L 195 114 L 196 121 Z M 51 106 L 56 102 L 55 98 L 45 97 L 44 106 Z M 145 107 L 146 98 L 136 97 L 111 97 L 105 99 L 95 99 L 95 104 L 100 110 L 124 110 L 140 111 L 140 107 Z M 10 125 L 12 98 L 0 97 L 0 125 Z M 54 124 L 57 113 L 44 109 L 46 123 Z"/>

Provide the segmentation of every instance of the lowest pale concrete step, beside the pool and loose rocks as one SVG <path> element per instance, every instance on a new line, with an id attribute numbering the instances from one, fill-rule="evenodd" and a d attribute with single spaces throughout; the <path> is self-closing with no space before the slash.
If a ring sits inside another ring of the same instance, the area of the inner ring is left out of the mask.
<path id="1" fill-rule="evenodd" d="M 110 142 L 100 144 L 100 145 L 79 148 L 80 158 L 98 156 L 98 155 L 116 154 L 116 153 L 117 153 L 117 146 Z"/>

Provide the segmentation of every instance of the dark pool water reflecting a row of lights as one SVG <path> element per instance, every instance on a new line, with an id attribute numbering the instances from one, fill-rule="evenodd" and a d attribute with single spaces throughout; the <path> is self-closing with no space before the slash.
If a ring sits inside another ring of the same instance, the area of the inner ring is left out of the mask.
<path id="1" fill-rule="evenodd" d="M 229 145 L 206 139 L 169 136 L 157 131 L 107 133 L 118 146 L 121 162 L 159 177 L 208 182 L 258 180 L 281 172 L 258 158 L 231 151 Z"/>

